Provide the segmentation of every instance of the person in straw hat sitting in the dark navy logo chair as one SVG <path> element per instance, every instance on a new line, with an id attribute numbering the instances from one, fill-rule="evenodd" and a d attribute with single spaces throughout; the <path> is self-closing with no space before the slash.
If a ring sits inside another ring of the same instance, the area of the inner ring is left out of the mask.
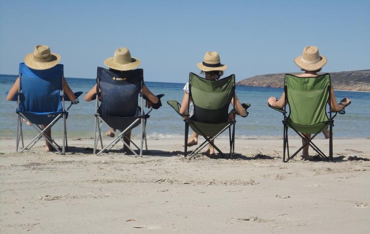
<path id="1" fill-rule="evenodd" d="M 131 53 L 128 50 L 128 48 L 125 47 L 120 47 L 115 50 L 114 52 L 114 57 L 110 57 L 104 61 L 104 64 L 109 67 L 109 69 L 115 73 L 119 73 L 122 71 L 128 71 L 128 70 L 133 70 L 134 68 L 138 67 L 140 65 L 140 60 L 137 58 L 131 57 Z M 86 101 L 91 101 L 94 98 L 94 95 L 96 94 L 96 86 L 95 85 L 89 92 L 86 93 L 85 95 L 85 100 Z M 101 92 L 101 90 L 99 90 Z M 150 108 L 151 106 L 154 109 L 158 109 L 162 104 L 160 99 L 155 96 L 153 93 L 150 92 L 148 87 L 143 84 L 143 90 L 140 90 L 140 93 L 144 96 L 146 99 L 146 106 Z M 100 95 L 99 100 L 102 99 L 102 95 Z M 127 116 L 121 116 L 121 117 L 127 117 Z M 112 132 L 110 129 L 106 133 L 107 136 L 114 136 L 114 132 Z M 131 137 L 131 131 L 129 131 L 126 134 L 126 138 L 124 138 L 124 141 L 130 145 L 130 140 L 129 138 Z M 127 147 L 124 146 L 123 148 L 124 151 L 128 151 Z"/>

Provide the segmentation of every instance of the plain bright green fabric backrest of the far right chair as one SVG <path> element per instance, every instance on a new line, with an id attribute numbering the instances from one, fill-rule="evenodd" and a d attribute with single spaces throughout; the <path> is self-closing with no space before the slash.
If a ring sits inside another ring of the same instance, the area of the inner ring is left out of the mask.
<path id="1" fill-rule="evenodd" d="M 326 105 L 330 97 L 330 74 L 297 77 L 286 74 L 284 88 L 290 114 L 288 119 L 302 126 L 328 121 Z"/>

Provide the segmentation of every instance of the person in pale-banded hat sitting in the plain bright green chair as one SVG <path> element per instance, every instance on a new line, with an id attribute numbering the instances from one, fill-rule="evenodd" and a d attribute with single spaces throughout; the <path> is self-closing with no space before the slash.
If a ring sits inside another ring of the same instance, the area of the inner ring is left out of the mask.
<path id="1" fill-rule="evenodd" d="M 317 77 L 318 72 L 321 71 L 322 67 L 324 67 L 327 63 L 327 58 L 325 56 L 320 56 L 319 54 L 319 49 L 316 46 L 306 46 L 303 49 L 303 53 L 301 56 L 296 57 L 294 60 L 295 64 L 301 68 L 303 73 L 297 74 L 296 76 L 298 77 Z M 334 96 L 334 90 L 333 87 L 330 90 L 330 103 L 332 106 L 333 111 L 339 111 L 341 110 L 344 106 L 346 106 L 351 100 L 348 98 L 344 98 L 340 101 L 340 103 L 336 102 L 335 96 Z M 268 103 L 276 108 L 283 108 L 286 103 L 284 103 L 285 100 L 285 93 L 283 92 L 281 98 L 277 100 L 274 97 L 270 97 L 268 99 Z M 303 134 L 303 133 L 302 133 Z M 323 131 L 323 134 L 325 138 L 329 138 L 329 131 L 328 129 L 325 129 Z M 311 134 L 304 134 L 308 137 L 308 139 L 311 138 Z M 306 141 L 302 139 L 302 144 L 304 145 Z M 309 154 L 308 154 L 308 145 L 306 145 L 303 148 L 303 159 L 309 159 Z"/>

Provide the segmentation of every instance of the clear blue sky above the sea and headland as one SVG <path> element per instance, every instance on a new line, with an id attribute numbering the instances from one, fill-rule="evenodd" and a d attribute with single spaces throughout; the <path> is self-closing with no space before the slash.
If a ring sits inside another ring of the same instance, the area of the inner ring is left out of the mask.
<path id="1" fill-rule="evenodd" d="M 298 71 L 316 45 L 323 71 L 370 68 L 370 1 L 0 0 L 0 73 L 17 74 L 37 44 L 62 56 L 65 76 L 95 78 L 117 47 L 142 61 L 145 80 L 186 82 L 206 51 L 237 80 Z"/>

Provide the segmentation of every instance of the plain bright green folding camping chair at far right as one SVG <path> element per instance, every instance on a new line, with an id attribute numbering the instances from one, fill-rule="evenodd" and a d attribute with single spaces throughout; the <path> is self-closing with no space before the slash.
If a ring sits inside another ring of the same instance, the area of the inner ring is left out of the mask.
<path id="1" fill-rule="evenodd" d="M 283 162 L 293 159 L 306 145 L 311 146 L 325 161 L 333 161 L 333 126 L 334 117 L 344 114 L 344 108 L 334 112 L 331 106 L 331 81 L 330 74 L 322 74 L 317 77 L 297 77 L 285 74 L 284 92 L 285 106 L 282 109 L 269 107 L 284 115 L 283 126 Z M 289 114 L 287 116 L 287 104 Z M 348 103 L 349 105 L 350 103 Z M 327 112 L 327 106 L 329 111 Z M 329 114 L 329 116 L 328 116 Z M 293 129 L 306 143 L 301 146 L 292 156 L 289 155 L 288 127 Z M 329 127 L 329 157 L 327 157 L 313 142 L 312 139 Z M 301 134 L 302 133 L 302 134 Z M 308 139 L 304 134 L 313 134 Z M 285 156 L 287 153 L 287 160 Z"/>

